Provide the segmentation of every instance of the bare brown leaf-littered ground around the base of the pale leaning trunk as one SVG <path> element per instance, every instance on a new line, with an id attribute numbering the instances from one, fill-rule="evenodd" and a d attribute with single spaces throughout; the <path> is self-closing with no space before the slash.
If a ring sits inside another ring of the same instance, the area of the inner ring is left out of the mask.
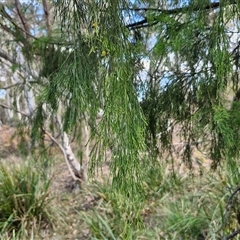
<path id="1" fill-rule="evenodd" d="M 9 125 L 0 126 L 0 161 L 7 165 L 19 165 L 26 161 L 32 161 L 31 157 L 24 157 L 21 154 L 21 138 L 16 134 L 16 128 Z M 49 144 L 49 143 L 48 143 Z M 36 160 L 34 158 L 34 160 Z M 54 197 L 53 203 L 56 209 L 61 209 L 64 217 L 63 222 L 59 221 L 60 226 L 56 226 L 56 232 L 49 229 L 41 230 L 39 239 L 44 240 L 71 240 L 89 239 L 90 230 L 79 219 L 78 211 L 88 211 L 92 209 L 101 197 L 92 192 L 94 184 L 82 186 L 82 189 L 75 189 L 74 181 L 65 163 L 64 157 L 60 149 L 53 145 L 49 147 L 47 156 L 41 159 L 43 165 L 48 166 L 48 172 L 51 180 L 50 192 Z M 45 162 L 47 161 L 47 162 Z M 98 175 L 91 179 L 91 182 L 101 183 L 103 178 L 109 175 L 109 168 L 102 166 L 98 171 Z M 77 220 L 78 219 L 78 220 Z M 81 226 L 80 231 L 75 226 Z M 82 227 L 84 225 L 84 227 Z M 34 237 L 34 239 L 38 238 Z M 2 239 L 2 238 L 1 238 Z"/>

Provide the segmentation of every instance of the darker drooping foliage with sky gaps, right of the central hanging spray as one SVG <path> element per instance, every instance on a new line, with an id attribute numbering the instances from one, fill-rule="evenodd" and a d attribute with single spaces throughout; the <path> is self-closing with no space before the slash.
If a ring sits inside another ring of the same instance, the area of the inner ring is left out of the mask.
<path id="1" fill-rule="evenodd" d="M 133 19 L 129 29 L 154 34 L 142 101 L 153 146 L 160 132 L 161 146 L 171 149 L 171 119 L 181 128 L 184 159 L 190 160 L 191 146 L 199 143 L 207 146 L 215 166 L 230 152 L 237 157 L 229 101 L 239 87 L 239 4 L 145 2 L 130 11 L 140 20 Z"/>

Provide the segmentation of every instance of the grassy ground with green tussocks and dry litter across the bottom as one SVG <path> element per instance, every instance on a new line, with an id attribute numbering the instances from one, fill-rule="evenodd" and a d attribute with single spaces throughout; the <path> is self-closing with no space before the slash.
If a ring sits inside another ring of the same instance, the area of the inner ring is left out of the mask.
<path id="1" fill-rule="evenodd" d="M 0 165 L 1 239 L 214 240 L 239 227 L 238 195 L 226 215 L 240 182 L 237 161 L 201 176 L 167 173 L 165 164 L 156 164 L 146 169 L 139 199 L 121 194 L 107 180 L 91 182 L 78 193 L 51 194 L 49 172 L 62 160 L 48 166 L 46 161 Z"/>

